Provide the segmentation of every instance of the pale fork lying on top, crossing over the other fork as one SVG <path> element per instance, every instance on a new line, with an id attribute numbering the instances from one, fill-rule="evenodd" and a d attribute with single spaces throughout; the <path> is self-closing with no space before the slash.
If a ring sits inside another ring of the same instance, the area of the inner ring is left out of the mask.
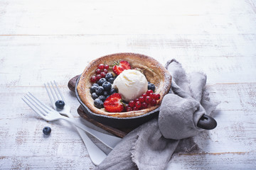
<path id="1" fill-rule="evenodd" d="M 33 111 L 38 113 L 38 115 L 41 115 L 41 117 L 47 121 L 53 121 L 53 120 L 67 120 L 70 123 L 73 123 L 78 128 L 85 130 L 85 132 L 88 132 L 90 135 L 97 138 L 97 140 L 100 140 L 103 144 L 105 144 L 107 147 L 113 148 L 117 143 L 119 143 L 122 139 L 119 137 L 114 137 L 112 135 L 107 135 L 102 132 L 98 132 L 97 130 L 93 130 L 91 128 L 88 128 L 85 125 L 82 125 L 81 123 L 77 123 L 75 120 L 67 118 L 63 115 L 60 115 L 58 111 L 55 111 L 53 108 L 50 108 L 49 106 L 46 106 L 44 103 L 38 100 L 33 94 L 29 93 L 22 98 L 23 101 L 30 106 Z"/>

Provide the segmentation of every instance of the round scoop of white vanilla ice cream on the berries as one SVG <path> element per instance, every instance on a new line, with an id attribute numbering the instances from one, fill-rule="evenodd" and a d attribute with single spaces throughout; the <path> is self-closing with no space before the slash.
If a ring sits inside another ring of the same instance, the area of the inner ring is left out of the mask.
<path id="1" fill-rule="evenodd" d="M 141 72 L 135 69 L 125 69 L 114 79 L 113 87 L 118 89 L 124 101 L 131 101 L 146 93 L 148 82 Z"/>

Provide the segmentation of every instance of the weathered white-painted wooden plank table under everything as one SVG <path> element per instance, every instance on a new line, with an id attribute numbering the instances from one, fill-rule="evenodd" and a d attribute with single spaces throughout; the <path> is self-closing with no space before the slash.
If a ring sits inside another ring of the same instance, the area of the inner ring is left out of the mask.
<path id="1" fill-rule="evenodd" d="M 116 52 L 176 58 L 205 72 L 221 101 L 218 127 L 168 169 L 256 169 L 255 0 L 0 0 L 0 169 L 94 168 L 72 125 L 42 120 L 21 97 L 31 91 L 50 105 L 43 83 L 54 79 L 75 118 L 96 128 L 76 112 L 68 80 Z"/>

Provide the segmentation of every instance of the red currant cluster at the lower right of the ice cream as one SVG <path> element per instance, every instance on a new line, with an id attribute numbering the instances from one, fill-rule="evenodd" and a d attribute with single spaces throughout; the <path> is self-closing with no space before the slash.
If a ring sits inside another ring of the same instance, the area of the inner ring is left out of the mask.
<path id="1" fill-rule="evenodd" d="M 160 94 L 155 94 L 154 91 L 148 90 L 146 94 L 142 94 L 139 98 L 129 101 L 125 111 L 139 111 L 150 106 L 156 106 L 157 101 L 160 99 Z"/>

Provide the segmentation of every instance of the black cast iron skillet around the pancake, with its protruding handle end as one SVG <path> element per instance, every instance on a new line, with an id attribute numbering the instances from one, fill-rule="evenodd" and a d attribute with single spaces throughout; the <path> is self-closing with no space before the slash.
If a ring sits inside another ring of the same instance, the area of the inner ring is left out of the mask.
<path id="1" fill-rule="evenodd" d="M 156 108 L 154 111 L 151 111 L 149 113 L 146 113 L 144 115 L 139 115 L 136 117 L 129 117 L 129 118 L 116 118 L 112 116 L 107 116 L 107 115 L 100 115 L 93 113 L 90 111 L 87 106 L 85 106 L 84 103 L 82 103 L 79 95 L 78 95 L 78 81 L 80 79 L 80 76 L 75 82 L 75 96 L 78 98 L 78 101 L 80 102 L 82 106 L 82 110 L 85 111 L 85 113 L 90 116 L 90 118 L 96 120 L 99 123 L 102 123 L 104 125 L 109 125 L 113 128 L 136 128 L 139 125 L 142 125 L 143 123 L 146 123 L 147 121 L 151 120 L 152 118 L 156 117 L 159 115 L 159 109 Z M 203 128 L 206 130 L 212 130 L 217 126 L 217 122 L 215 121 L 214 118 L 210 117 L 209 115 L 203 115 L 201 119 L 198 121 L 197 124 L 198 128 Z"/>

